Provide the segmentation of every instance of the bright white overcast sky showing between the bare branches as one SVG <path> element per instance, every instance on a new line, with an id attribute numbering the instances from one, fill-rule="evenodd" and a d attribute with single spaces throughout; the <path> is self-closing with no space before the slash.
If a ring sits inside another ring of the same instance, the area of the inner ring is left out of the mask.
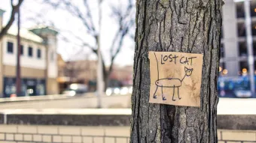
<path id="1" fill-rule="evenodd" d="M 22 7 L 21 7 L 21 26 L 23 28 L 31 28 L 35 27 L 38 23 L 42 23 L 44 25 L 54 25 L 56 29 L 59 29 L 60 35 L 64 35 L 72 42 L 65 42 L 62 40 L 62 36 L 58 36 L 58 49 L 57 51 L 59 54 L 62 55 L 64 60 L 75 60 L 75 59 L 96 59 L 96 56 L 90 52 L 89 49 L 83 48 L 79 46 L 80 41 L 75 39 L 72 34 L 77 35 L 78 37 L 82 37 L 86 39 L 88 43 L 93 45 L 93 39 L 88 37 L 83 23 L 72 16 L 70 13 L 67 13 L 66 10 L 54 10 L 47 4 L 41 4 L 42 0 L 24 0 Z M 80 0 L 81 1 L 81 0 Z M 111 16 L 111 9 L 110 5 L 117 4 L 120 0 L 111 0 L 105 1 L 102 4 L 102 34 L 101 34 L 101 45 L 102 45 L 102 53 L 104 54 L 104 58 L 109 64 L 109 48 L 114 37 L 115 31 L 117 29 L 117 24 L 113 20 Z M 126 0 L 121 0 L 125 2 Z M 79 3 L 78 0 L 77 4 L 83 10 L 83 4 Z M 98 18 L 97 13 L 97 5 L 96 0 L 89 0 L 89 4 L 93 13 L 93 21 L 96 23 Z M 11 14 L 11 1 L 10 0 L 0 0 L 0 8 L 5 10 L 4 14 L 4 25 L 8 22 L 8 19 Z M 17 25 L 17 22 L 14 23 Z M 133 31 L 134 32 L 133 28 Z M 77 54 L 79 52 L 79 54 Z M 127 37 L 124 40 L 123 48 L 120 51 L 120 54 L 117 56 L 114 63 L 120 65 L 131 65 L 133 64 L 133 52 L 134 52 L 134 40 L 130 37 Z"/>

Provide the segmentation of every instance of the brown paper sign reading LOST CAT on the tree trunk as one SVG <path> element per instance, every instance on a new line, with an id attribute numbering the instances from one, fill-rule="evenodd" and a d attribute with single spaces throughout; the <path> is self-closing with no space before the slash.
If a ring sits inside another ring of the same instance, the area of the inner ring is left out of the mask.
<path id="1" fill-rule="evenodd" d="M 150 103 L 200 106 L 203 55 L 185 52 L 148 52 Z"/>

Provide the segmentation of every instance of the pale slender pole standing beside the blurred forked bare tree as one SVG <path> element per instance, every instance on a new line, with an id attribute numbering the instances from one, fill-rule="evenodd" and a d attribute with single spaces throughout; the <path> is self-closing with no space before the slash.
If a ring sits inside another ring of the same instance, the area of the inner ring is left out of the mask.
<path id="1" fill-rule="evenodd" d="M 99 7 L 99 33 L 97 38 L 98 45 L 98 66 L 97 66 L 97 97 L 98 97 L 98 108 L 102 108 L 102 94 L 104 90 L 104 82 L 103 82 L 103 71 L 102 71 L 102 55 L 100 52 L 100 33 L 101 33 L 101 20 L 102 20 L 102 9 L 101 9 L 102 0 L 98 1 Z"/>

